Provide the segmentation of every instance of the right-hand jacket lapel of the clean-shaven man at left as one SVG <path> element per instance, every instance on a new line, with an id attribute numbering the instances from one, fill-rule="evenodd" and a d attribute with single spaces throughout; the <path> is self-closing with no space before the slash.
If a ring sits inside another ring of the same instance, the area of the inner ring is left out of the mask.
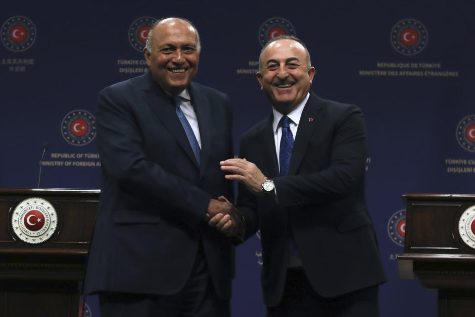
<path id="1" fill-rule="evenodd" d="M 203 94 L 193 85 L 190 84 L 190 98 L 191 104 L 194 106 L 196 112 L 196 117 L 198 120 L 199 135 L 201 138 L 201 157 L 200 157 L 200 178 L 203 176 L 204 171 L 206 170 L 206 164 L 208 163 L 208 157 L 210 154 L 210 143 L 211 143 L 211 107 Z M 191 148 L 191 147 L 190 147 Z"/>

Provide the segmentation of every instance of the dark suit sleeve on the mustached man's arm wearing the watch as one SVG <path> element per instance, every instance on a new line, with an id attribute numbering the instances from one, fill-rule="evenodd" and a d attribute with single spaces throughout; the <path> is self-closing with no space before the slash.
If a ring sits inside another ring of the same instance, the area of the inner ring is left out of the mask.
<path id="1" fill-rule="evenodd" d="M 362 184 L 367 157 L 362 112 L 356 106 L 347 107 L 338 115 L 333 129 L 328 166 L 308 174 L 274 178 L 280 205 L 329 204 L 350 195 L 355 186 Z"/>

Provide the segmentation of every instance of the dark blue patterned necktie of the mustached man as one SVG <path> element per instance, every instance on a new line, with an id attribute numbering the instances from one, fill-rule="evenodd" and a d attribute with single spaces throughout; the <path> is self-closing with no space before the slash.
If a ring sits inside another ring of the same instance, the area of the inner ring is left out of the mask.
<path id="1" fill-rule="evenodd" d="M 292 157 L 293 149 L 293 135 L 290 130 L 290 118 L 286 115 L 282 117 L 279 124 L 282 126 L 281 146 L 279 148 L 279 165 L 281 168 L 281 176 L 288 174 L 288 166 L 290 165 L 290 158 Z M 293 237 L 290 223 L 287 226 L 287 247 L 288 250 L 297 258 L 300 258 L 297 247 L 295 246 L 295 239 Z"/>

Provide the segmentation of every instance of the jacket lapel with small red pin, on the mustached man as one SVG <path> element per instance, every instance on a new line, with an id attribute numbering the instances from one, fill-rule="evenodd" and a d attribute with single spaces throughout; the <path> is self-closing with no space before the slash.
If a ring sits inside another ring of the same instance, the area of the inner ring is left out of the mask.
<path id="1" fill-rule="evenodd" d="M 310 92 L 307 104 L 303 108 L 302 115 L 297 127 L 295 141 L 293 143 L 292 157 L 288 168 L 289 175 L 295 175 L 298 167 L 302 163 L 303 157 L 308 147 L 310 136 L 320 124 L 325 114 L 323 101 L 314 93 Z"/>

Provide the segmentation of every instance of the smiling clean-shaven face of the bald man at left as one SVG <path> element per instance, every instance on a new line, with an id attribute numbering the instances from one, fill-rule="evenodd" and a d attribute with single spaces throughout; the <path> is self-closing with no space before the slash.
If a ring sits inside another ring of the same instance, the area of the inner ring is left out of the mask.
<path id="1" fill-rule="evenodd" d="M 165 19 L 152 31 L 150 51 L 143 49 L 153 79 L 172 95 L 184 91 L 198 70 L 198 37 L 186 21 Z"/>

